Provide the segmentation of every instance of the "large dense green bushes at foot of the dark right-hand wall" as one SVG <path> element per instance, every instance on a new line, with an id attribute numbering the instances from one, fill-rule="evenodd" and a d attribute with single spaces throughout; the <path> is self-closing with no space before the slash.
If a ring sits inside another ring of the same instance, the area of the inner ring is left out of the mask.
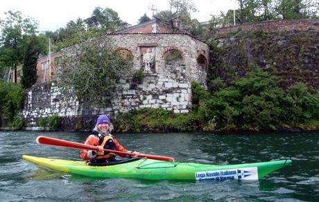
<path id="1" fill-rule="evenodd" d="M 284 91 L 274 77 L 255 68 L 200 99 L 198 113 L 215 129 L 259 131 L 318 120 L 318 101 L 318 91 L 309 86 L 298 83 Z"/>

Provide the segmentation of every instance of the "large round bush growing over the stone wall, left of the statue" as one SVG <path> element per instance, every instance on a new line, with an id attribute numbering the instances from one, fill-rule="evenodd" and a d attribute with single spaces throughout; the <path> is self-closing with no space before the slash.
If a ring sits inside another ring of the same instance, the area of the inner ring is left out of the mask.
<path id="1" fill-rule="evenodd" d="M 64 54 L 58 61 L 61 71 L 58 85 L 66 95 L 74 93 L 80 100 L 101 106 L 114 95 L 118 81 L 132 71 L 132 61 L 123 59 L 102 39 L 70 47 L 71 55 Z M 70 91 L 70 89 L 74 89 Z"/>

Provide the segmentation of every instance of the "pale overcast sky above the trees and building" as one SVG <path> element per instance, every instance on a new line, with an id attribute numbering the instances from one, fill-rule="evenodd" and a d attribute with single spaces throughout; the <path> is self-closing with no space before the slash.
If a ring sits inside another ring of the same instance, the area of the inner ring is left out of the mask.
<path id="1" fill-rule="evenodd" d="M 234 0 L 193 0 L 198 12 L 192 18 L 199 21 L 208 21 L 210 15 L 218 15 L 221 11 L 234 8 Z M 139 17 L 152 16 L 150 5 L 154 4 L 159 10 L 169 9 L 168 0 L 6 0 L 0 3 L 0 18 L 8 10 L 20 11 L 24 16 L 39 21 L 40 31 L 56 30 L 64 27 L 68 21 L 78 17 L 85 19 L 92 15 L 94 8 L 112 8 L 121 20 L 135 25 Z"/>

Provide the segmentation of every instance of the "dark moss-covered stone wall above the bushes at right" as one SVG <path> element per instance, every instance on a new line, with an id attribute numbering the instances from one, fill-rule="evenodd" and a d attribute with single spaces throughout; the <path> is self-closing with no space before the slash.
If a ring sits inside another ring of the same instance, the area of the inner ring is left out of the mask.
<path id="1" fill-rule="evenodd" d="M 295 82 L 319 86 L 319 32 L 236 31 L 210 37 L 208 80 L 222 77 L 230 82 L 242 77 L 252 66 L 277 76 L 283 87 Z"/>

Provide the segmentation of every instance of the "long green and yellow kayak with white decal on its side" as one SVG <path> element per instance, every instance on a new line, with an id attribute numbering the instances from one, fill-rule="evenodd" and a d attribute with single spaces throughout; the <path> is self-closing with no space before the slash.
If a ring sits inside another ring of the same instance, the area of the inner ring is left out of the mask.
<path id="1" fill-rule="evenodd" d="M 87 165 L 82 160 L 60 160 L 27 155 L 22 156 L 22 158 L 49 169 L 83 176 L 179 181 L 258 180 L 275 172 L 277 169 L 291 165 L 291 160 L 274 160 L 264 163 L 237 165 L 206 165 L 141 158 L 118 165 L 92 166 Z"/>

